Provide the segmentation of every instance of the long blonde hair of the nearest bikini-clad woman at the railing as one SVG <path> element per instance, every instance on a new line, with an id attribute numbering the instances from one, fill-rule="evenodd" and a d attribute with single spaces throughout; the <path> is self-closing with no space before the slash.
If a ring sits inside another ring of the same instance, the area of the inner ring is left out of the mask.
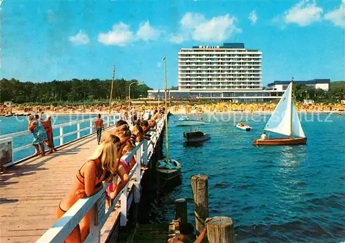
<path id="1" fill-rule="evenodd" d="M 97 146 L 89 160 L 100 159 L 103 170 L 110 171 L 112 174 L 117 173 L 117 146 L 112 142 L 103 142 Z"/>

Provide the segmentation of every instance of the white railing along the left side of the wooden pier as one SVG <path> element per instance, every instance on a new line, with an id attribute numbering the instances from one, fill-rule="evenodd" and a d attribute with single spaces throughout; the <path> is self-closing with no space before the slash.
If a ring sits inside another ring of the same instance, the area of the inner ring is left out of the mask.
<path id="1" fill-rule="evenodd" d="M 115 123 L 119 119 L 120 119 L 120 115 L 119 114 L 106 115 L 106 116 L 103 117 L 104 126 L 108 127 L 108 126 L 115 125 Z M 59 124 L 59 125 L 52 126 L 52 129 L 59 128 L 59 136 L 55 136 L 53 139 L 54 140 L 55 139 L 59 139 L 59 141 L 60 141 L 60 145 L 59 146 L 61 146 L 63 144 L 70 143 L 70 142 L 73 142 L 73 141 L 76 140 L 76 139 L 74 139 L 72 141 L 66 142 L 65 141 L 66 139 L 63 139 L 64 137 L 68 137 L 68 136 L 74 135 L 74 134 L 77 134 L 77 139 L 80 139 L 82 137 L 86 137 L 86 136 L 90 135 L 91 133 L 95 132 L 95 130 L 93 129 L 94 128 L 94 124 L 93 124 L 94 121 L 95 121 L 95 118 L 81 119 L 81 120 L 75 121 L 75 122 L 67 122 L 67 123 L 64 123 L 64 124 Z M 89 122 L 89 124 L 88 124 L 88 126 L 86 126 L 86 128 L 80 128 L 81 124 L 88 123 L 88 122 Z M 64 127 L 72 126 L 72 125 L 77 125 L 76 126 L 76 130 L 73 130 L 70 133 L 66 133 L 66 132 L 63 131 Z M 89 130 L 89 133 L 87 133 L 86 135 L 83 135 L 81 137 L 81 132 L 86 131 L 86 130 Z M 19 152 L 21 150 L 24 150 L 26 148 L 32 148 L 32 144 L 26 144 L 26 145 L 23 145 L 23 146 L 20 146 L 20 147 L 17 147 L 17 148 L 13 148 L 13 139 L 14 139 L 14 137 L 22 137 L 22 136 L 28 136 L 28 135 L 32 135 L 32 133 L 29 130 L 24 130 L 24 131 L 21 131 L 21 132 L 18 132 L 18 133 L 10 133 L 10 134 L 6 134 L 6 135 L 0 135 L 0 141 L 1 142 L 11 142 L 12 143 L 12 162 L 7 163 L 4 166 L 6 166 L 6 167 L 12 166 L 14 164 L 17 164 L 17 163 L 21 162 L 23 159 L 27 159 L 28 157 L 31 157 L 31 156 L 23 157 L 23 158 L 19 159 L 16 162 L 13 161 L 13 154 L 14 153 Z M 57 148 L 59 146 L 57 146 Z"/>

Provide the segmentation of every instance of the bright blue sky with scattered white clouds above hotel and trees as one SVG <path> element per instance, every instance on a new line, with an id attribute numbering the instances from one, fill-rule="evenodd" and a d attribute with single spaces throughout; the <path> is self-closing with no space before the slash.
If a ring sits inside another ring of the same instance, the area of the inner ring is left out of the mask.
<path id="1" fill-rule="evenodd" d="M 0 0 L 0 77 L 138 79 L 177 86 L 180 48 L 241 42 L 263 52 L 263 85 L 345 80 L 345 0 Z"/>

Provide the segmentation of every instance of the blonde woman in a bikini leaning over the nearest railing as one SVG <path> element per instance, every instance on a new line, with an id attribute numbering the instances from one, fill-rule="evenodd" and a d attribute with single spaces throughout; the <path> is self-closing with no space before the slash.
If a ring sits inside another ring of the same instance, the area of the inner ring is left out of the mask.
<path id="1" fill-rule="evenodd" d="M 56 219 L 59 220 L 79 198 L 90 197 L 101 191 L 102 182 L 111 181 L 112 175 L 115 174 L 119 175 L 123 181 L 128 181 L 128 174 L 124 171 L 123 166 L 117 162 L 117 146 L 112 142 L 103 142 L 97 146 L 92 157 L 77 172 L 75 183 L 57 207 Z M 83 217 L 65 242 L 83 242 L 89 232 L 90 212 Z"/>

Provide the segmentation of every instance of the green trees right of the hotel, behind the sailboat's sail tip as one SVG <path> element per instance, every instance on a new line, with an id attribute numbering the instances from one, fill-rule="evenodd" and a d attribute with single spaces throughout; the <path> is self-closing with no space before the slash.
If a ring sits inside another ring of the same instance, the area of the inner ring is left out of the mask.
<path id="1" fill-rule="evenodd" d="M 296 101 L 313 99 L 315 102 L 334 103 L 345 99 L 345 81 L 331 82 L 329 89 L 311 88 L 304 84 L 293 84 L 293 95 Z"/>

